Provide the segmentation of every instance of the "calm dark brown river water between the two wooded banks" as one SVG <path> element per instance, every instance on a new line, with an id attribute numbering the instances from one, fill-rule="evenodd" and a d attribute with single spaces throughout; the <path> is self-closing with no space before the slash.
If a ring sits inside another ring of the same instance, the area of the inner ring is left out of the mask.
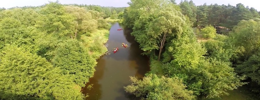
<path id="1" fill-rule="evenodd" d="M 130 35 L 131 30 L 124 25 L 114 22 L 110 29 L 107 55 L 97 60 L 96 72 L 89 83 L 83 88 L 82 93 L 88 94 L 87 100 L 138 100 L 134 95 L 128 94 L 124 86 L 131 84 L 129 76 L 142 78 L 149 68 L 149 58 L 141 55 L 142 50 Z M 117 31 L 122 28 L 123 30 Z M 122 43 L 127 47 L 123 47 Z M 113 53 L 114 48 L 119 48 Z M 93 85 L 89 90 L 88 85 Z"/>

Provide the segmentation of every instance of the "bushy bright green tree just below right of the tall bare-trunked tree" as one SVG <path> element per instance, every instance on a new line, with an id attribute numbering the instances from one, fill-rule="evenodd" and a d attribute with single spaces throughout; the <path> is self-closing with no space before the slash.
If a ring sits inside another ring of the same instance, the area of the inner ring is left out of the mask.
<path id="1" fill-rule="evenodd" d="M 171 46 L 168 47 L 166 54 L 170 59 L 164 59 L 163 62 L 170 62 L 175 67 L 171 68 L 196 68 L 200 60 L 206 53 L 206 49 L 202 48 L 197 42 L 190 41 L 188 37 L 178 40 L 172 40 Z M 168 69 L 169 70 L 169 69 Z M 172 73 L 172 71 L 170 71 Z M 172 73 L 174 74 L 174 73 Z"/>

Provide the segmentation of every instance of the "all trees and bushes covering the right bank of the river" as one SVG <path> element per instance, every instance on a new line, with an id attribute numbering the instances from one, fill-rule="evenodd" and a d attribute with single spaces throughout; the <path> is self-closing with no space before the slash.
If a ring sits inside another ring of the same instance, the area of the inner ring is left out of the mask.
<path id="1" fill-rule="evenodd" d="M 246 85 L 246 98 L 259 98 L 260 12 L 192 0 L 128 4 L 123 24 L 150 57 L 151 71 L 141 80 L 131 76 L 126 92 L 148 100 L 217 100 Z"/>

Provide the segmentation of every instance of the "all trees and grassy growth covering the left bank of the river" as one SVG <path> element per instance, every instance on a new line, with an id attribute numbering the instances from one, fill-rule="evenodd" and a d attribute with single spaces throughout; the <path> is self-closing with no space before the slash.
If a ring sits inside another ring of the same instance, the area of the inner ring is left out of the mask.
<path id="1" fill-rule="evenodd" d="M 96 60 L 107 52 L 104 44 L 111 25 L 105 18 L 113 10 L 122 11 L 110 8 L 58 1 L 1 8 L 0 99 L 87 97 L 81 87 L 93 77 Z"/>

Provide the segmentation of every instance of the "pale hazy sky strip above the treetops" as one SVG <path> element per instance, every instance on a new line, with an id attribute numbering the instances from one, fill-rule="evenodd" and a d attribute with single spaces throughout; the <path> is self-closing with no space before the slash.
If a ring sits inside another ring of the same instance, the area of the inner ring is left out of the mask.
<path id="1" fill-rule="evenodd" d="M 0 8 L 11 8 L 11 7 L 23 7 L 23 6 L 38 6 L 48 3 L 48 1 L 56 1 L 56 0 L 0 0 Z M 114 7 L 127 7 L 130 0 L 59 0 L 62 4 L 94 4 L 101 6 L 114 6 Z M 179 4 L 181 0 L 176 0 Z M 190 1 L 190 0 L 188 0 Z M 260 0 L 193 0 L 196 5 L 203 5 L 205 2 L 207 5 L 215 4 L 230 4 L 236 5 L 238 3 L 242 3 L 245 6 L 253 7 L 260 11 Z"/>

